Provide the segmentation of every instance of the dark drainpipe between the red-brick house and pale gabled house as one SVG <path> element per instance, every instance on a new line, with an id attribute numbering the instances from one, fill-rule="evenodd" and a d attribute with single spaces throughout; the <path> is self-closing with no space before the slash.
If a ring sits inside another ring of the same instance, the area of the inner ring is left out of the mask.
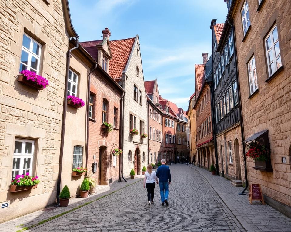
<path id="1" fill-rule="evenodd" d="M 121 147 L 122 149 L 122 155 L 121 157 L 119 156 L 119 177 L 118 177 L 118 182 L 122 182 L 122 179 L 124 180 L 124 182 L 126 182 L 125 178 L 123 177 L 123 139 L 124 139 L 124 128 L 123 128 L 123 118 L 124 118 L 124 96 L 125 96 L 125 92 L 122 93 L 121 99 L 120 99 L 120 119 L 119 119 L 119 129 L 120 129 L 120 133 L 119 133 L 119 147 Z"/>

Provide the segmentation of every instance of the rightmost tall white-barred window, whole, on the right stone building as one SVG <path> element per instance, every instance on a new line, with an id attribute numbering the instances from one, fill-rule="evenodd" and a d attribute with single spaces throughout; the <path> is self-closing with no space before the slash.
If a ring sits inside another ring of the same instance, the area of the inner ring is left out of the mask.
<path id="1" fill-rule="evenodd" d="M 277 24 L 272 28 L 270 33 L 267 35 L 265 39 L 265 44 L 268 72 L 269 76 L 272 76 L 272 74 L 282 66 Z"/>

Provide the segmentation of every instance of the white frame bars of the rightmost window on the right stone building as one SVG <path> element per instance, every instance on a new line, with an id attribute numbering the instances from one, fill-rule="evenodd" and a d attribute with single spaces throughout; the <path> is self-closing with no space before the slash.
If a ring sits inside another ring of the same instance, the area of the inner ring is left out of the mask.
<path id="1" fill-rule="evenodd" d="M 276 34 L 277 35 L 277 39 L 274 41 L 274 33 L 273 32 L 275 31 L 275 29 L 277 31 L 277 34 Z M 268 47 L 268 43 L 267 43 L 267 40 L 269 38 L 271 40 L 270 41 L 271 42 L 271 46 L 270 47 Z M 276 49 L 275 49 L 275 45 L 277 43 L 278 43 L 278 46 L 279 46 L 279 54 L 276 54 Z M 268 74 L 269 74 L 269 77 L 270 77 L 282 66 L 277 24 L 274 25 L 274 27 L 271 29 L 269 34 L 266 36 L 265 49 L 266 49 L 266 56 L 267 56 Z M 271 52 L 272 52 L 273 56 L 268 55 L 268 54 L 271 54 Z M 280 66 L 278 66 L 277 60 L 280 60 Z M 275 63 L 276 63 L 276 65 L 274 66 Z M 274 72 L 272 72 L 272 66 L 274 66 Z"/>

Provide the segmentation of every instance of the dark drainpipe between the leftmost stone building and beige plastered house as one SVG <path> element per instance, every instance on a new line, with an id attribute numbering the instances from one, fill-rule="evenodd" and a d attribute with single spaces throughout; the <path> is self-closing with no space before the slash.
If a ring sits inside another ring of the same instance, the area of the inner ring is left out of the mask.
<path id="1" fill-rule="evenodd" d="M 71 48 L 67 52 L 67 63 L 66 63 L 66 76 L 65 76 L 65 91 L 64 91 L 64 100 L 63 100 L 63 115 L 62 115 L 62 130 L 61 130 L 61 147 L 60 147 L 60 159 L 59 159 L 59 175 L 57 182 L 57 205 L 59 205 L 60 200 L 60 188 L 61 188 L 61 176 L 62 176 L 62 162 L 63 162 L 63 153 L 64 153 L 64 139 L 65 139 L 65 124 L 66 124 L 66 114 L 67 114 L 67 97 L 68 97 L 68 77 L 70 70 L 70 56 L 72 50 L 79 47 L 79 36 L 75 37 L 76 44 L 75 47 Z M 70 40 L 71 42 L 72 40 Z"/>

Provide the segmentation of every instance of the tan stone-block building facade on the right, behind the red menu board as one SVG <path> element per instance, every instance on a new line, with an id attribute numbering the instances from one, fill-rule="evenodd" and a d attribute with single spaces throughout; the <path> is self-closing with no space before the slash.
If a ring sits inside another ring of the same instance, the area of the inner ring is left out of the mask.
<path id="1" fill-rule="evenodd" d="M 265 163 L 247 158 L 249 183 L 259 183 L 265 201 L 290 215 L 290 2 L 232 1 L 228 8 L 235 25 L 244 139 L 253 136 L 270 147 Z"/>

